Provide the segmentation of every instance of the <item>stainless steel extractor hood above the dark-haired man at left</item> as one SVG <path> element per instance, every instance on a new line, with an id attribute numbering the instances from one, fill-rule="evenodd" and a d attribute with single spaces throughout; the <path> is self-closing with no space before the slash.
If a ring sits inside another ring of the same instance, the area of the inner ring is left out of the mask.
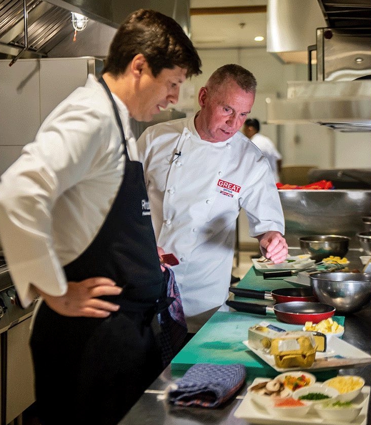
<path id="1" fill-rule="evenodd" d="M 116 28 L 139 8 L 171 16 L 190 32 L 189 0 L 0 0 L 0 58 L 103 57 Z M 76 43 L 71 12 L 89 18 Z"/>

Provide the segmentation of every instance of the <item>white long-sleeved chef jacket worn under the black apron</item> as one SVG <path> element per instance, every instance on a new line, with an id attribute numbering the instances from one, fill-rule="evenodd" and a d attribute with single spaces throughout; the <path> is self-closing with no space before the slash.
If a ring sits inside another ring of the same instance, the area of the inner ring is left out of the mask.
<path id="1" fill-rule="evenodd" d="M 113 94 L 137 160 L 129 112 Z M 103 86 L 89 75 L 46 118 L 34 142 L 2 175 L 0 235 L 24 306 L 30 283 L 51 295 L 66 292 L 62 266 L 90 244 L 115 200 L 124 173 L 121 133 Z M 99 258 L 97 258 L 99 261 Z"/>

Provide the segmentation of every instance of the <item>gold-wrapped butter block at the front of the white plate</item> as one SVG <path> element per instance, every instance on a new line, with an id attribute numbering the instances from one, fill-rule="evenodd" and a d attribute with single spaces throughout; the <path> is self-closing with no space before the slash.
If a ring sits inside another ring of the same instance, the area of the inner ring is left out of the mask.
<path id="1" fill-rule="evenodd" d="M 271 341 L 271 354 L 276 366 L 281 368 L 311 367 L 316 350 L 312 332 L 287 332 Z"/>

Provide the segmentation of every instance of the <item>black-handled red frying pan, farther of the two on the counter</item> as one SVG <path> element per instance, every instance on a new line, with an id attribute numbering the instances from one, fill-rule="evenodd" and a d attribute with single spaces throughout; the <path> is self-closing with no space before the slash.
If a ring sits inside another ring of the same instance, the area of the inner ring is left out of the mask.
<path id="1" fill-rule="evenodd" d="M 276 302 L 317 301 L 312 288 L 280 288 L 272 291 L 256 291 L 245 288 L 229 288 L 229 290 L 239 297 L 269 299 Z"/>

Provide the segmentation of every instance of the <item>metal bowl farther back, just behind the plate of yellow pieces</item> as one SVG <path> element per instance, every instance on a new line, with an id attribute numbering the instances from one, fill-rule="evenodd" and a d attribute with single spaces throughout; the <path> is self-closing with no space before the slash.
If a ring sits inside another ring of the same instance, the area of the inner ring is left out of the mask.
<path id="1" fill-rule="evenodd" d="M 311 258 L 321 261 L 333 255 L 343 258 L 348 252 L 350 238 L 337 235 L 314 235 L 299 238 L 300 248 Z"/>

